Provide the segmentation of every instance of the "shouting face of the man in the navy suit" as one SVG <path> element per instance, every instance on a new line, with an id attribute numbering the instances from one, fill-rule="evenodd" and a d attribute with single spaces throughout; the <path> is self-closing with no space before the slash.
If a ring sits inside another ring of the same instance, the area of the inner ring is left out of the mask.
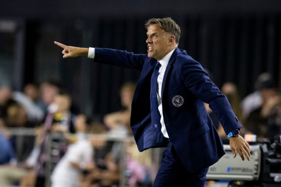
<path id="1" fill-rule="evenodd" d="M 157 24 L 149 25 L 147 29 L 148 57 L 161 60 L 169 51 L 169 34 Z"/>

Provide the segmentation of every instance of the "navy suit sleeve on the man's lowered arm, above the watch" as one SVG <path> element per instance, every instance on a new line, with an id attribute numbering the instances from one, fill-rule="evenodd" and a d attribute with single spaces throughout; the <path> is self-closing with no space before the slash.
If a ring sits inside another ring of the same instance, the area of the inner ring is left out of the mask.
<path id="1" fill-rule="evenodd" d="M 195 60 L 186 60 L 181 67 L 181 77 L 185 86 L 209 107 L 219 118 L 226 134 L 242 128 L 226 98 L 210 80 L 203 67 Z"/>

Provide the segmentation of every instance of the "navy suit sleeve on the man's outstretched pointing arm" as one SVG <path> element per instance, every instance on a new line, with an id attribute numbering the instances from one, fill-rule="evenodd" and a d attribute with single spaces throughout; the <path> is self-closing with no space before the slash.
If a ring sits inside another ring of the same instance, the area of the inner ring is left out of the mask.
<path id="1" fill-rule="evenodd" d="M 133 54 L 116 49 L 95 48 L 94 62 L 142 70 L 145 54 Z"/>

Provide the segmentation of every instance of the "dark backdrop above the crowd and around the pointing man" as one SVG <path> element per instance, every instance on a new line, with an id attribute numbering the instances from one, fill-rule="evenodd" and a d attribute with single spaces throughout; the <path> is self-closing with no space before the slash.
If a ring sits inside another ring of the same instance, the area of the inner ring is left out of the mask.
<path id="1" fill-rule="evenodd" d="M 63 59 L 54 41 L 146 53 L 144 23 L 171 17 L 181 27 L 179 48 L 210 71 L 220 88 L 234 82 L 241 97 L 262 72 L 280 84 L 280 0 L 0 1 L 0 83 L 15 90 L 29 82 L 61 81 L 81 112 L 119 110 L 119 88 L 140 72 Z M 5 75 L 5 76 L 4 76 Z M 5 80 L 5 79 L 2 79 Z"/>

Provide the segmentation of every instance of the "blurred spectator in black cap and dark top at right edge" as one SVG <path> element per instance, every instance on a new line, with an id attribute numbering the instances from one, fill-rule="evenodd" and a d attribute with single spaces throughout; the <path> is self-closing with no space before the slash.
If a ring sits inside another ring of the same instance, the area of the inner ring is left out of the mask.
<path id="1" fill-rule="evenodd" d="M 257 135 L 258 140 L 273 138 L 280 133 L 280 95 L 277 86 L 269 73 L 263 73 L 258 77 L 256 88 L 261 94 L 261 105 L 249 114 L 245 126 Z"/>

